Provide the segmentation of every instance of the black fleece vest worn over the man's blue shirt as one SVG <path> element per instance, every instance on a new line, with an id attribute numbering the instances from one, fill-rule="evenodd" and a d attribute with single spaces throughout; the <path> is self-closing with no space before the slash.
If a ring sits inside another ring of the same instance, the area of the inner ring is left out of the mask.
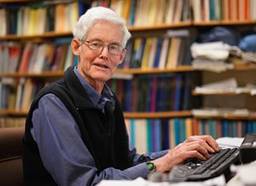
<path id="1" fill-rule="evenodd" d="M 105 116 L 91 103 L 88 94 L 84 93 L 84 87 L 73 72 L 73 67 L 70 67 L 66 70 L 63 79 L 51 83 L 39 92 L 28 112 L 23 139 L 26 185 L 56 185 L 55 180 L 44 168 L 37 143 L 30 134 L 30 129 L 33 127 L 31 121 L 33 111 L 37 108 L 39 99 L 49 93 L 59 97 L 75 118 L 84 145 L 93 156 L 98 173 L 107 167 L 126 169 L 131 166 L 128 158 L 128 135 L 118 99 L 115 96 L 115 110 Z"/>

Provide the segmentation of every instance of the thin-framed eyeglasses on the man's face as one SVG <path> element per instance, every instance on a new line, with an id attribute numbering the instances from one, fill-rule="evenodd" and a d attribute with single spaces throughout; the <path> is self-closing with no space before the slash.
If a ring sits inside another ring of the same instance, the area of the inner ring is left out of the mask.
<path id="1" fill-rule="evenodd" d="M 124 50 L 118 44 L 107 45 L 107 44 L 104 44 L 102 41 L 98 41 L 98 40 L 82 41 L 82 43 L 85 43 L 86 45 L 88 45 L 88 47 L 91 50 L 97 50 L 99 52 L 103 50 L 104 46 L 107 46 L 109 53 L 113 55 L 120 55 L 122 54 L 122 50 Z"/>

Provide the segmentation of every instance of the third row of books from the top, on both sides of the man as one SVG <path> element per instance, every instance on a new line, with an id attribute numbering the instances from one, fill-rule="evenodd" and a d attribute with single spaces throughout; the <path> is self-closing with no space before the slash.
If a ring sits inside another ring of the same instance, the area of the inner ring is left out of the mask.
<path id="1" fill-rule="evenodd" d="M 191 110 L 194 72 L 134 76 L 108 82 L 125 112 L 162 112 Z M 31 100 L 44 87 L 33 79 L 0 79 L 0 109 L 27 111 Z M 196 98 L 195 98 L 196 99 Z"/>

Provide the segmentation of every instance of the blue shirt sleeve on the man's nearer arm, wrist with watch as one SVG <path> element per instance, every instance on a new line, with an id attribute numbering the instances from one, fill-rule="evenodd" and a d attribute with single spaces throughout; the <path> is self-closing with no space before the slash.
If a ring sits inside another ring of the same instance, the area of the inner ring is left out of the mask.
<path id="1" fill-rule="evenodd" d="M 57 185 L 96 185 L 102 179 L 146 178 L 146 163 L 121 171 L 109 167 L 98 174 L 95 162 L 84 145 L 73 116 L 54 94 L 46 94 L 33 112 L 30 131 L 46 170 Z M 134 155 L 133 155 L 134 156 Z"/>

